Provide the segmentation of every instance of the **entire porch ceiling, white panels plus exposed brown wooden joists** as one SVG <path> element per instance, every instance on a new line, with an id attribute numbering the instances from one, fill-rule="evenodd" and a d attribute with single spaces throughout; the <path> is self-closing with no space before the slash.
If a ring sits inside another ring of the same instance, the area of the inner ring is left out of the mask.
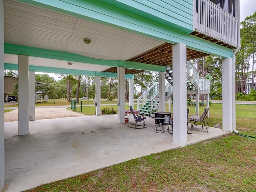
<path id="1" fill-rule="evenodd" d="M 85 44 L 84 38 L 90 38 L 92 42 Z M 101 60 L 132 61 L 159 66 L 172 65 L 172 44 L 170 43 L 17 0 L 4 1 L 4 42 L 69 52 Z M 196 50 L 187 49 L 187 60 L 206 55 Z M 17 56 L 5 54 L 4 62 L 17 64 Z M 66 61 L 43 58 L 30 59 L 30 65 L 117 72 L 116 67 L 109 68 L 109 66 L 86 63 L 74 63 L 72 66 L 68 66 Z M 125 70 L 126 74 L 139 72 L 141 70 Z"/>

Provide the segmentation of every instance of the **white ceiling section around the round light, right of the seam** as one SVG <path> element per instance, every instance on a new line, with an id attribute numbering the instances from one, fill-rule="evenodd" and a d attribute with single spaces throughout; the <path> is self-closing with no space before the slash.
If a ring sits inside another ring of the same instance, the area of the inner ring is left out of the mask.
<path id="1" fill-rule="evenodd" d="M 92 42 L 85 44 L 84 38 L 90 38 Z M 80 20 L 67 51 L 91 58 L 128 60 L 162 43 L 123 30 Z"/>

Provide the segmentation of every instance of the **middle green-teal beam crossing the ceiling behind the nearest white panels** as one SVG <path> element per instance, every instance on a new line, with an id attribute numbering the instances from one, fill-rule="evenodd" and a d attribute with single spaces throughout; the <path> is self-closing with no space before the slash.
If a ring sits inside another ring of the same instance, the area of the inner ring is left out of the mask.
<path id="1" fill-rule="evenodd" d="M 34 47 L 7 44 L 7 43 L 4 44 L 4 53 L 15 54 L 15 55 L 27 55 L 32 57 L 64 60 L 64 61 L 71 61 L 71 62 L 82 62 L 82 63 L 103 65 L 103 66 L 110 66 L 110 67 L 125 67 L 128 69 L 136 69 L 136 70 L 151 70 L 151 71 L 157 71 L 157 72 L 165 71 L 165 67 L 163 66 L 130 62 L 130 61 L 94 59 L 94 58 L 89 58 L 86 56 L 81 56 L 78 54 L 73 54 L 68 52 L 61 52 L 61 51 L 34 48 Z"/>

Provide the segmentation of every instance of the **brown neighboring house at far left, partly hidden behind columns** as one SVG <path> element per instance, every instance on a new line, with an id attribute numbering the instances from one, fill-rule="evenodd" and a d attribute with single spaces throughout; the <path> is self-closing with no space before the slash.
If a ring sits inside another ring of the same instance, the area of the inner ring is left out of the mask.
<path id="1" fill-rule="evenodd" d="M 10 75 L 4 76 L 4 102 L 7 101 L 8 95 L 11 95 L 13 93 L 14 84 L 18 83 L 18 79 L 19 78 Z M 35 86 L 39 88 L 42 87 L 44 84 L 46 83 L 37 81 L 35 82 Z M 48 102 L 48 94 L 43 93 L 42 90 L 38 90 L 37 92 L 35 92 L 35 100 L 36 102 L 37 100 L 40 100 L 40 102 L 42 102 L 42 100 Z"/>

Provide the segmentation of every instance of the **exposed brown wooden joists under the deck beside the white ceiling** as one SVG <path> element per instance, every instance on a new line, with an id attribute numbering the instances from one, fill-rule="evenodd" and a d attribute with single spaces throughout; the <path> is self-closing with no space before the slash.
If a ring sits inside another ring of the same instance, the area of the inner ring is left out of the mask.
<path id="1" fill-rule="evenodd" d="M 139 54 L 128 61 L 146 63 L 160 66 L 172 66 L 172 46 L 173 44 L 164 43 L 142 54 Z M 207 56 L 208 54 L 187 48 L 187 61 Z M 104 72 L 117 72 L 116 67 L 108 68 Z M 126 74 L 136 74 L 141 70 L 125 69 Z"/>

